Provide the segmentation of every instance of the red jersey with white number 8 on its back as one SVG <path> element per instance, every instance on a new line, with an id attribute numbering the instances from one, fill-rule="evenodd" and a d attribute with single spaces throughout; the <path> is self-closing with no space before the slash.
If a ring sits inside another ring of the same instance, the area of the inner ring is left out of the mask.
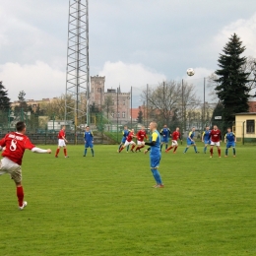
<path id="1" fill-rule="evenodd" d="M 17 132 L 7 134 L 0 141 L 0 146 L 6 147 L 2 156 L 18 163 L 19 165 L 22 165 L 25 150 L 32 150 L 32 148 L 35 147 L 26 135 Z"/>

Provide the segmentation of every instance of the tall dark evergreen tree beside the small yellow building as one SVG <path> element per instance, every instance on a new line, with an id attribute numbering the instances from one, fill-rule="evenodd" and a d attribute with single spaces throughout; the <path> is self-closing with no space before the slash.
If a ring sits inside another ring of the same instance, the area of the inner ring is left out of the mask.
<path id="1" fill-rule="evenodd" d="M 219 77 L 215 80 L 218 83 L 215 90 L 224 107 L 222 116 L 226 125 L 234 121 L 235 113 L 248 111 L 249 73 L 242 69 L 246 57 L 240 56 L 244 50 L 245 46 L 242 46 L 240 38 L 237 34 L 232 34 L 224 46 L 224 54 L 220 54 L 218 60 L 220 69 L 215 72 Z"/>

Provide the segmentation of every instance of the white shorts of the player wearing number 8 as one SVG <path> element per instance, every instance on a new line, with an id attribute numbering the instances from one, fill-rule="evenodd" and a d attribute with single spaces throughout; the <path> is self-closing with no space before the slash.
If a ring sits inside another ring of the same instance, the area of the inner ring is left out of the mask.
<path id="1" fill-rule="evenodd" d="M 0 175 L 6 173 L 9 173 L 11 175 L 11 178 L 14 179 L 15 182 L 19 183 L 22 181 L 21 165 L 7 158 L 3 158 L 0 161 Z"/>

